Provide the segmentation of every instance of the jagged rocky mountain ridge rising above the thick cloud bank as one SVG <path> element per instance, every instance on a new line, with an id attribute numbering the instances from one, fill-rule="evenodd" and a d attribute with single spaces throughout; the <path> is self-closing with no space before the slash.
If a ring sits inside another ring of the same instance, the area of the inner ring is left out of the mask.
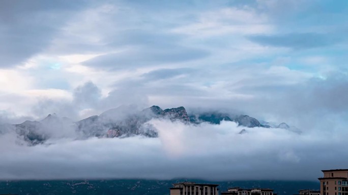
<path id="1" fill-rule="evenodd" d="M 265 124 L 267 122 L 261 124 L 257 119 L 248 115 L 232 115 L 220 112 L 203 112 L 189 115 L 183 106 L 163 110 L 156 105 L 142 110 L 135 106 L 120 106 L 77 122 L 53 113 L 47 115 L 41 121 L 25 121 L 12 126 L 7 125 L 6 128 L 13 129 L 19 137 L 22 137 L 30 145 L 44 143 L 50 138 L 65 137 L 77 139 L 89 137 L 125 138 L 134 135 L 158 137 L 156 128 L 147 123 L 152 119 L 168 119 L 192 125 L 200 123 L 218 125 L 222 121 L 231 121 L 248 128 L 281 128 L 298 132 L 298 129 L 285 123 L 271 127 Z M 241 134 L 244 132 L 245 130 Z"/>

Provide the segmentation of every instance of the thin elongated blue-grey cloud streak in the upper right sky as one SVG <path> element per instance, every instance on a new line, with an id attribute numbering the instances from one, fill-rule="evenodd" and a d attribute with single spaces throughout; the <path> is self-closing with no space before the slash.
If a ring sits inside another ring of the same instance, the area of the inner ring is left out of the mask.
<path id="1" fill-rule="evenodd" d="M 250 41 L 264 46 L 285 47 L 292 49 L 311 49 L 337 44 L 341 38 L 335 34 L 289 33 L 275 35 L 253 35 Z"/>

